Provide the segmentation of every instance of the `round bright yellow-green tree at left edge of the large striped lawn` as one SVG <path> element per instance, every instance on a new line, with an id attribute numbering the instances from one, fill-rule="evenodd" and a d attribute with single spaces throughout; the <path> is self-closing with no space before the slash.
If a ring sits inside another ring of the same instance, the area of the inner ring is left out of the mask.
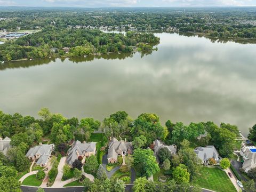
<path id="1" fill-rule="evenodd" d="M 183 164 L 173 170 L 172 176 L 177 183 L 189 183 L 189 172 Z"/>

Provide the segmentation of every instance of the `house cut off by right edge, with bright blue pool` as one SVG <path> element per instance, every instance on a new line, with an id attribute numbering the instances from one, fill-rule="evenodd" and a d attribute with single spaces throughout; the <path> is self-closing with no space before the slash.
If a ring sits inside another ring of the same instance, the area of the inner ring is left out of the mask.
<path id="1" fill-rule="evenodd" d="M 240 155 L 244 159 L 243 170 L 247 173 L 250 169 L 256 167 L 256 146 L 244 146 L 240 150 Z"/>

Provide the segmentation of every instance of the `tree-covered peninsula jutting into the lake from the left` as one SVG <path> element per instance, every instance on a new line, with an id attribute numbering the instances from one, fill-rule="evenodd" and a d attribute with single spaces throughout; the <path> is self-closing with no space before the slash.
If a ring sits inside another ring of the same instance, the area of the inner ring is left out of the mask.
<path id="1" fill-rule="evenodd" d="M 158 43 L 159 38 L 151 33 L 128 31 L 123 35 L 103 33 L 98 29 L 60 29 L 49 26 L 38 33 L 1 45 L 0 60 L 46 58 L 52 55 L 75 57 L 133 50 L 151 51 Z M 63 51 L 63 47 L 68 47 L 68 52 Z"/>

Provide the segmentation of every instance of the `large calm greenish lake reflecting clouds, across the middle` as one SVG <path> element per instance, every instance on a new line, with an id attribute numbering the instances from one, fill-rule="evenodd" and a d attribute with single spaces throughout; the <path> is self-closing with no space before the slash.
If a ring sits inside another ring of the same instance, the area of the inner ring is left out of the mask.
<path id="1" fill-rule="evenodd" d="M 164 123 L 256 123 L 256 44 L 156 34 L 158 51 L 0 65 L 0 109 L 37 117 L 42 107 L 100 121 L 117 110 Z M 143 57 L 142 57 L 143 56 Z"/>

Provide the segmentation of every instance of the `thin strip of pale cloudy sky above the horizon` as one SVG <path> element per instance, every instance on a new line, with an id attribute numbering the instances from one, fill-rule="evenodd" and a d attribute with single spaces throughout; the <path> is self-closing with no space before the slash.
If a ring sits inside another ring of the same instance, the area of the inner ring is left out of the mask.
<path id="1" fill-rule="evenodd" d="M 256 0 L 0 0 L 0 6 L 172 7 L 256 6 Z"/>

